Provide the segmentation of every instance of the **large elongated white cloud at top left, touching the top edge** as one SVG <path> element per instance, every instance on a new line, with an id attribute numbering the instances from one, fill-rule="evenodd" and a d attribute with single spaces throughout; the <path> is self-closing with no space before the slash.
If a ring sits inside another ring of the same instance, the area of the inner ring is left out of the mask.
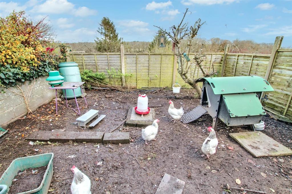
<path id="1" fill-rule="evenodd" d="M 44 3 L 34 6 L 31 11 L 36 13 L 52 14 L 70 13 L 75 16 L 88 16 L 96 14 L 96 10 L 91 10 L 87 7 L 75 8 L 75 5 L 67 0 L 46 0 Z"/>

